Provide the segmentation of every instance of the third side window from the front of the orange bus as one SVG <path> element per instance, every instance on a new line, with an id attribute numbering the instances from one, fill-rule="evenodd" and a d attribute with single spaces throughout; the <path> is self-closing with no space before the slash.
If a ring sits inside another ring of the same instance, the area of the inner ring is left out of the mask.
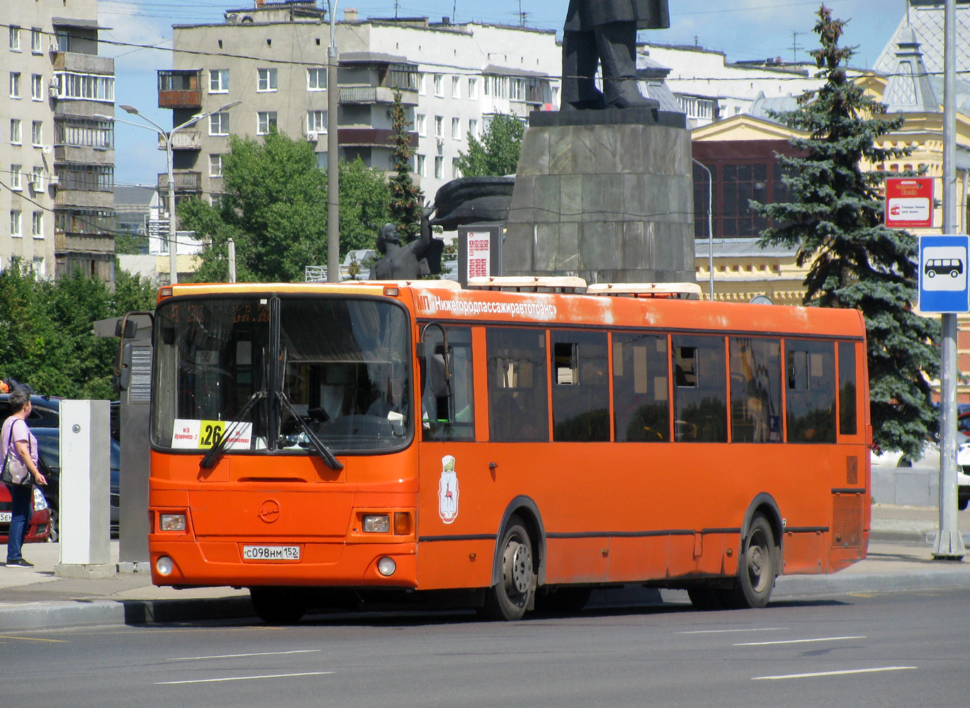
<path id="1" fill-rule="evenodd" d="M 552 436 L 609 441 L 606 333 L 553 332 Z"/>

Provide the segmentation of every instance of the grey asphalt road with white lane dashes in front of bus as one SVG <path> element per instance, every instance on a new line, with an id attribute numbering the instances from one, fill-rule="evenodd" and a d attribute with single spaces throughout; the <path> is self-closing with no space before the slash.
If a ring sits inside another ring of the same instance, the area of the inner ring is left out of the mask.
<path id="1" fill-rule="evenodd" d="M 953 706 L 970 704 L 970 591 L 697 612 L 317 615 L 0 637 L 4 706 Z"/>

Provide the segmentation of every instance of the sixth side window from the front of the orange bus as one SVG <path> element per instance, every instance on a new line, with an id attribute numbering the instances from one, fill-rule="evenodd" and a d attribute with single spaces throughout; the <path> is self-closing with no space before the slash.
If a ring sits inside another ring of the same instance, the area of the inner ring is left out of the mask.
<path id="1" fill-rule="evenodd" d="M 730 338 L 732 442 L 781 442 L 780 339 Z"/>

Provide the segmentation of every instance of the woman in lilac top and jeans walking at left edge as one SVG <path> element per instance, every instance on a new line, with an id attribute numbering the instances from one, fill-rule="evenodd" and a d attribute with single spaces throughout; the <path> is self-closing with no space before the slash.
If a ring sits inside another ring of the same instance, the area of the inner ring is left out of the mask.
<path id="1" fill-rule="evenodd" d="M 3 423 L 3 434 L 0 435 L 3 444 L 3 457 L 0 458 L 0 462 L 7 460 L 8 451 L 13 453 L 30 471 L 34 478 L 34 484 L 45 485 L 48 480 L 41 474 L 40 467 L 37 467 L 37 438 L 30 432 L 30 427 L 27 425 L 27 416 L 30 415 L 32 409 L 30 395 L 23 389 L 17 388 L 10 395 L 8 401 L 11 410 L 14 412 Z M 13 459 L 13 455 L 11 459 Z M 8 484 L 7 489 L 10 490 L 10 498 L 13 501 L 10 530 L 7 531 L 7 565 L 33 567 L 33 563 L 23 560 L 23 556 L 20 555 L 20 548 L 27 535 L 30 516 L 33 513 L 34 486 L 33 484 Z"/>

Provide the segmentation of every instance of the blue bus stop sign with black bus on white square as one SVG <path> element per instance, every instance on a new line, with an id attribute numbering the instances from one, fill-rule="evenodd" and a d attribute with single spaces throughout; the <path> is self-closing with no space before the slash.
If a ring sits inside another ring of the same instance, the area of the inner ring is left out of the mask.
<path id="1" fill-rule="evenodd" d="M 923 312 L 970 311 L 967 287 L 970 237 L 920 237 L 920 309 Z"/>

